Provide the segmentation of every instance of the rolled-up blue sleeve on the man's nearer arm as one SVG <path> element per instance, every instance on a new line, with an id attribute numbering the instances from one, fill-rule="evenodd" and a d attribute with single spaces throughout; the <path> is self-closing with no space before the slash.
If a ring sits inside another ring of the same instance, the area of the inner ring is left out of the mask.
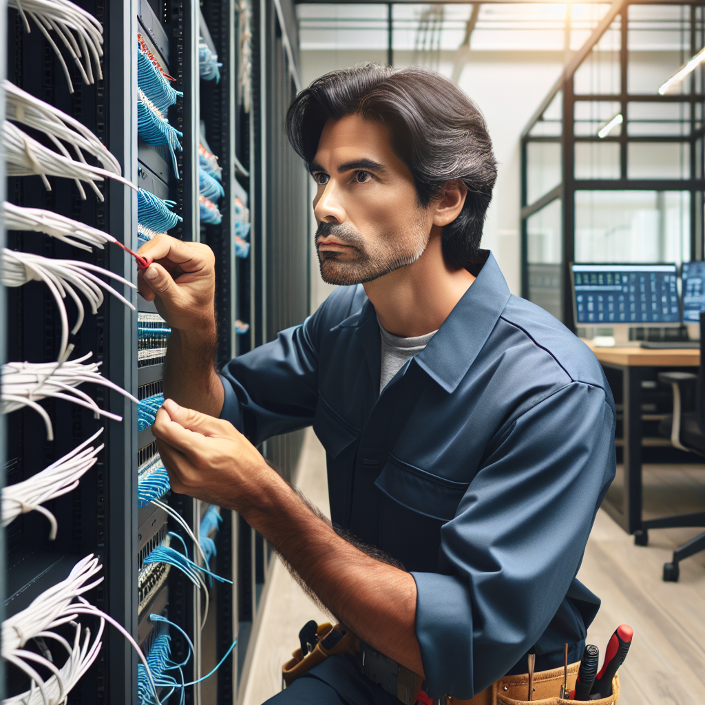
<path id="1" fill-rule="evenodd" d="M 472 698 L 544 633 L 614 477 L 614 429 L 603 389 L 574 381 L 495 436 L 441 529 L 450 575 L 412 573 L 431 697 Z"/>

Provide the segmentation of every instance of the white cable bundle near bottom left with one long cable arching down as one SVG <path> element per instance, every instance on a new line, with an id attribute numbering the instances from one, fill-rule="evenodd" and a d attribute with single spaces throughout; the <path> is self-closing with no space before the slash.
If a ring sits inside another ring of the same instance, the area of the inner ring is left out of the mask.
<path id="1" fill-rule="evenodd" d="M 88 603 L 82 594 L 96 587 L 103 582 L 103 577 L 98 577 L 93 582 L 90 581 L 102 569 L 102 565 L 98 562 L 93 554 L 86 556 L 73 567 L 66 580 L 62 580 L 56 585 L 50 587 L 39 595 L 27 608 L 18 612 L 16 615 L 7 618 L 2 623 L 2 646 L 1 654 L 3 658 L 12 663 L 17 668 L 23 671 L 30 679 L 32 679 L 32 693 L 34 687 L 39 689 L 39 697 L 44 705 L 57 705 L 66 699 L 68 693 L 68 683 L 63 679 L 63 674 L 44 656 L 39 656 L 32 651 L 27 651 L 22 647 L 34 637 L 57 638 L 52 632 L 49 632 L 54 627 L 59 627 L 63 624 L 73 623 L 78 615 L 92 615 L 105 620 L 109 624 L 116 627 L 118 632 L 130 642 L 133 648 L 140 656 L 140 660 L 145 664 L 149 682 L 154 689 L 154 697 L 157 697 L 157 689 L 154 687 L 152 673 L 149 670 L 147 659 L 137 646 L 125 628 L 114 620 L 110 615 L 107 615 L 102 610 L 99 610 L 94 605 Z M 102 625 L 101 625 L 102 627 Z M 59 689 L 59 699 L 51 700 L 49 698 L 48 683 L 45 683 L 37 671 L 30 666 L 27 661 L 39 663 L 44 668 L 47 668 L 53 674 L 52 678 L 56 678 L 56 688 Z M 78 666 L 78 663 L 76 664 Z M 159 699 L 157 698 L 157 703 Z"/>

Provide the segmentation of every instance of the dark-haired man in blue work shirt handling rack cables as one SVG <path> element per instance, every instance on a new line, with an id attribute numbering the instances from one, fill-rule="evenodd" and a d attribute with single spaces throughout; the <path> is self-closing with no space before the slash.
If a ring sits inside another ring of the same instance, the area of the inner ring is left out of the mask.
<path id="1" fill-rule="evenodd" d="M 615 472 L 614 405 L 589 350 L 479 250 L 482 115 L 436 73 L 365 65 L 302 91 L 288 135 L 317 183 L 321 275 L 341 285 L 302 325 L 219 376 L 212 252 L 140 250 L 156 262 L 140 292 L 173 329 L 154 424 L 173 489 L 238 510 L 432 698 L 526 673 L 529 651 L 537 670 L 565 642 L 579 660 L 599 600 L 575 575 Z M 343 532 L 252 445 L 309 424 Z M 398 699 L 340 655 L 271 702 Z"/>

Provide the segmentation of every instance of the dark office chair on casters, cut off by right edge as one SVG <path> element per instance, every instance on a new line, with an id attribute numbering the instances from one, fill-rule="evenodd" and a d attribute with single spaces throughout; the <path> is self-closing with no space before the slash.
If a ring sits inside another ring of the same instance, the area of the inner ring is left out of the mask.
<path id="1" fill-rule="evenodd" d="M 700 369 L 698 374 L 659 372 L 658 379 L 670 384 L 673 388 L 673 414 L 661 421 L 658 432 L 670 438 L 674 448 L 705 456 L 705 312 L 700 313 Z M 681 408 L 681 389 L 693 385 L 695 385 L 695 412 L 684 413 Z M 635 532 L 635 544 L 646 546 L 649 543 L 649 529 L 675 527 L 705 527 L 705 512 L 661 517 L 642 522 L 642 528 Z M 673 551 L 673 560 L 663 564 L 663 580 L 678 581 L 680 575 L 678 563 L 701 551 L 705 551 L 705 532 Z"/>

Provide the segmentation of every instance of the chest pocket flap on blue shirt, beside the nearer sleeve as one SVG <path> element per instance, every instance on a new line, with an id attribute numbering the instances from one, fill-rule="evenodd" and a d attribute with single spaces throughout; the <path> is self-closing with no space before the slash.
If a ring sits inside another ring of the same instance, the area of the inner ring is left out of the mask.
<path id="1" fill-rule="evenodd" d="M 453 519 L 470 486 L 421 470 L 394 455 L 389 455 L 374 484 L 396 503 L 441 522 Z"/>

